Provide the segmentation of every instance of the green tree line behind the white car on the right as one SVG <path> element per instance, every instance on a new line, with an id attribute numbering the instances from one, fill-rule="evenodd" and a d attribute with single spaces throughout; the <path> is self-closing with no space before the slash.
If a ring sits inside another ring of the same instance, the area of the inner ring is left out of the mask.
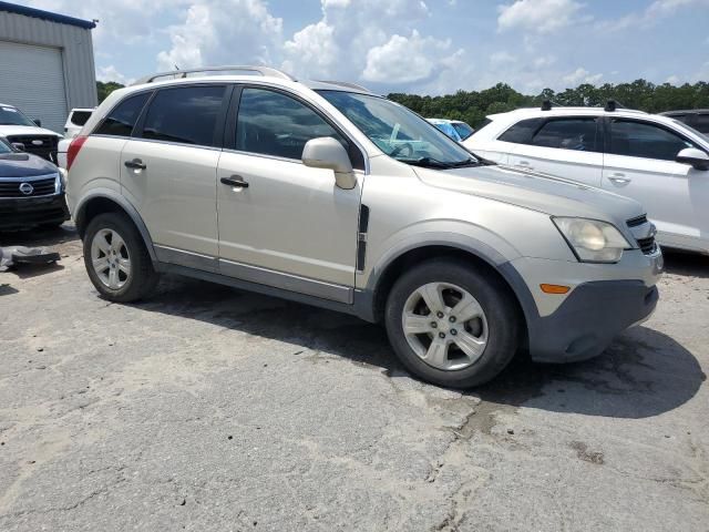
<path id="1" fill-rule="evenodd" d="M 700 81 L 693 85 L 685 83 L 681 86 L 669 83 L 656 85 L 645 80 L 617 85 L 606 83 L 602 86 L 584 83 L 576 89 L 566 89 L 558 93 L 552 89 L 544 89 L 535 96 L 521 94 L 505 83 L 497 83 L 480 92 L 458 91 L 444 96 L 394 93 L 389 94 L 389 98 L 425 117 L 463 120 L 473 127 L 480 127 L 489 114 L 538 106 L 544 100 L 551 100 L 558 105 L 603 106 L 613 99 L 626 108 L 649 113 L 709 108 L 709 83 Z"/>

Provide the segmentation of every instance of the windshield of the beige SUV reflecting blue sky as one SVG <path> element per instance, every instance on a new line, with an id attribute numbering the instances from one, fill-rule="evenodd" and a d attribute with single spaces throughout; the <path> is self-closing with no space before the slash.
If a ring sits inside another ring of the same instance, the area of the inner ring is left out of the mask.
<path id="1" fill-rule="evenodd" d="M 386 98 L 318 91 L 390 157 L 432 167 L 477 164 L 472 154 L 418 114 Z"/>

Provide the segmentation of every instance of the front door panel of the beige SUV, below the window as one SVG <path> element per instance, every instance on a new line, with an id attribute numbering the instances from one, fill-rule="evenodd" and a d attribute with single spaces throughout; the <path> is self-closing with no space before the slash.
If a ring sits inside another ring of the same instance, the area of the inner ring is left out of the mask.
<path id="1" fill-rule="evenodd" d="M 270 270 L 353 286 L 361 176 L 349 191 L 331 170 L 224 152 L 219 182 L 219 257 Z"/>

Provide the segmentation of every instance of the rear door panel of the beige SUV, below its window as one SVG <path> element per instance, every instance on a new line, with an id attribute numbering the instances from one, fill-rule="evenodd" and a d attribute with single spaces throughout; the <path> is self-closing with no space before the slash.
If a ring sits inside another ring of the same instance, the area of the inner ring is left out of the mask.
<path id="1" fill-rule="evenodd" d="M 132 139 L 121 157 L 123 194 L 138 209 L 153 242 L 218 255 L 216 174 L 219 151 Z M 145 170 L 127 168 L 140 160 Z"/>

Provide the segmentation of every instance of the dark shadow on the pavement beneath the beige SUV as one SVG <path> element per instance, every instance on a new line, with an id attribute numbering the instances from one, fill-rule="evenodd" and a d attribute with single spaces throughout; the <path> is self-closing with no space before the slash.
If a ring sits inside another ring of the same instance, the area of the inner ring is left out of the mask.
<path id="1" fill-rule="evenodd" d="M 294 345 L 294 356 L 339 356 L 389 377 L 407 375 L 383 327 L 337 313 L 194 279 L 167 277 L 136 307 L 198 319 Z M 706 380 L 695 356 L 647 327 L 620 336 L 600 357 L 540 365 L 521 355 L 470 396 L 507 406 L 614 418 L 647 418 L 690 400 Z"/>

